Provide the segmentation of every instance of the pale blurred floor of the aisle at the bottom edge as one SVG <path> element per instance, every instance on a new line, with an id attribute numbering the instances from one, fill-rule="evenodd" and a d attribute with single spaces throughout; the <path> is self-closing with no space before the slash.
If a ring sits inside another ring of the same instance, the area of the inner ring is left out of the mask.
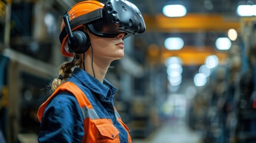
<path id="1" fill-rule="evenodd" d="M 146 139 L 132 139 L 132 143 L 202 143 L 199 132 L 190 130 L 186 123 L 166 123 Z"/>

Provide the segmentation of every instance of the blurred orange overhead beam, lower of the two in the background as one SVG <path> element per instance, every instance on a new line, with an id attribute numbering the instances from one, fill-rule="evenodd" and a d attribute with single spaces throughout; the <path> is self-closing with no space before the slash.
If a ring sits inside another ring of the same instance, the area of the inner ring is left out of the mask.
<path id="1" fill-rule="evenodd" d="M 169 51 L 165 47 L 158 47 L 152 44 L 148 48 L 147 55 L 147 60 L 152 64 L 165 64 L 165 60 L 168 57 L 179 57 L 183 66 L 198 66 L 205 64 L 206 57 L 209 55 L 216 55 L 219 64 L 226 64 L 229 52 L 219 51 L 212 48 L 212 46 L 184 46 L 180 50 Z"/>

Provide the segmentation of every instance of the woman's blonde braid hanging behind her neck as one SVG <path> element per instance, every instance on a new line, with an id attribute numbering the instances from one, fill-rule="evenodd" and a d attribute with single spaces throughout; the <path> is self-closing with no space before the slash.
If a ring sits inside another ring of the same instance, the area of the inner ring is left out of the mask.
<path id="1" fill-rule="evenodd" d="M 53 80 L 53 82 L 51 83 L 51 89 L 53 90 L 53 92 L 58 88 L 58 86 L 61 85 L 61 83 L 69 79 L 75 67 L 84 67 L 82 54 L 75 54 L 72 61 L 70 61 L 69 63 L 61 64 L 60 68 L 58 69 L 58 76 L 61 75 L 63 78 L 60 79 L 59 77 L 57 77 Z"/>

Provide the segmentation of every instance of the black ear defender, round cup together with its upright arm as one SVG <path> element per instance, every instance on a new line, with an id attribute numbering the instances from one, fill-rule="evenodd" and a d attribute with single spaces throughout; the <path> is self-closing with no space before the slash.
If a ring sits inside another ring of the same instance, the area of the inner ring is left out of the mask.
<path id="1" fill-rule="evenodd" d="M 70 52 L 75 52 L 76 54 L 83 54 L 90 47 L 89 35 L 81 30 L 76 30 L 72 33 L 69 24 L 69 14 L 63 16 L 63 21 L 67 30 L 67 46 L 69 46 Z"/>

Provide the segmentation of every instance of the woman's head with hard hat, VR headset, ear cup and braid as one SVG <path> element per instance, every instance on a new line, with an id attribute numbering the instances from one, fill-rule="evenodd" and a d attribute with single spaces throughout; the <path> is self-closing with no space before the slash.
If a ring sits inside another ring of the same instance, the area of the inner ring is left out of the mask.
<path id="1" fill-rule="evenodd" d="M 140 11 L 127 0 L 108 0 L 105 5 L 98 1 L 82 1 L 74 5 L 63 16 L 59 37 L 61 54 L 73 60 L 61 65 L 61 79 L 54 79 L 53 91 L 70 77 L 74 67 L 92 70 L 90 73 L 94 74 L 93 63 L 103 67 L 103 64 L 124 57 L 123 39 L 141 34 L 145 29 Z M 76 45 L 85 50 L 78 48 L 78 52 L 74 52 Z"/>

